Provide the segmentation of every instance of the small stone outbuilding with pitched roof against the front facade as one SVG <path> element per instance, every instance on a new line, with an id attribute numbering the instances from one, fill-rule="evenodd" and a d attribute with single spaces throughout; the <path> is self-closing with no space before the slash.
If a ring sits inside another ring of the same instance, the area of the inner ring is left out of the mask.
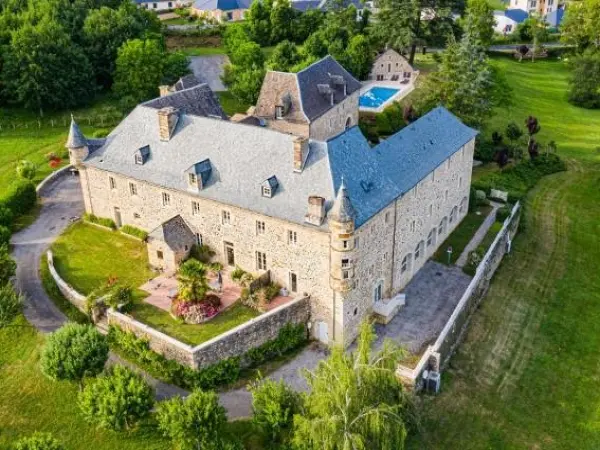
<path id="1" fill-rule="evenodd" d="M 148 234 L 150 265 L 174 272 L 196 244 L 196 234 L 180 215 L 163 222 Z"/>

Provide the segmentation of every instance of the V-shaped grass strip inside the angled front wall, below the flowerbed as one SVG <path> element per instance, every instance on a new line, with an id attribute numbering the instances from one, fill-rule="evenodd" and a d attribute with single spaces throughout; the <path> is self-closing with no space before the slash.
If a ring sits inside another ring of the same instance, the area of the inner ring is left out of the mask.
<path id="1" fill-rule="evenodd" d="M 168 312 L 147 303 L 137 303 L 130 314 L 140 322 L 190 345 L 206 342 L 259 315 L 256 310 L 239 302 L 201 325 L 182 323 Z"/>

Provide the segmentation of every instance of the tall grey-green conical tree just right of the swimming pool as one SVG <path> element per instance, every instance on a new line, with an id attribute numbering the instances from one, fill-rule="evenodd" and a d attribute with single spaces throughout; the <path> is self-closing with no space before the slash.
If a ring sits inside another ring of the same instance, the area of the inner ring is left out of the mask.
<path id="1" fill-rule="evenodd" d="M 493 74 L 483 47 L 468 28 L 459 43 L 450 38 L 440 70 L 426 79 L 424 92 L 420 111 L 441 103 L 472 126 L 481 126 L 490 117 L 495 103 Z"/>

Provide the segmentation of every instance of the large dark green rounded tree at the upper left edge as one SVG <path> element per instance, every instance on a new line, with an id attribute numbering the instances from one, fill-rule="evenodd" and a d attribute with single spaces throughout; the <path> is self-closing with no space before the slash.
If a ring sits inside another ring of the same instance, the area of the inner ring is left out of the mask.
<path id="1" fill-rule="evenodd" d="M 80 47 L 49 19 L 12 33 L 3 55 L 4 94 L 43 115 L 46 108 L 70 108 L 94 93 L 93 70 Z"/>

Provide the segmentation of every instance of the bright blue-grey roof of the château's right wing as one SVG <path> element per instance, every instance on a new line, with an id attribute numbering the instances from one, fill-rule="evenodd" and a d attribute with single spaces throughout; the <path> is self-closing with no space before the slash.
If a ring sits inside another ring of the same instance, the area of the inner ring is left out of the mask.
<path id="1" fill-rule="evenodd" d="M 371 148 L 358 127 L 327 142 L 334 184 L 342 177 L 359 227 L 410 191 L 477 135 L 438 107 Z"/>

